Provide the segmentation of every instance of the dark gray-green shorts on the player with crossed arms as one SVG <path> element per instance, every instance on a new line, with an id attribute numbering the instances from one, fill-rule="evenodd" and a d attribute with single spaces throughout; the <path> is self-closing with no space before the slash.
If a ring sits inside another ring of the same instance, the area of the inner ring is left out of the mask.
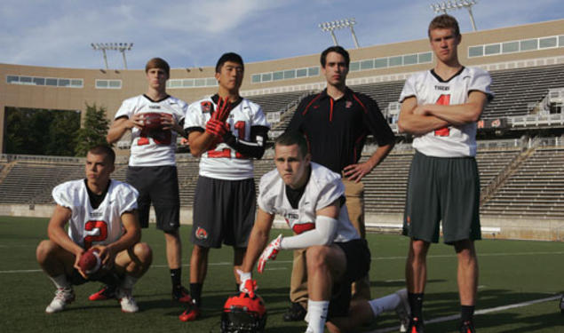
<path id="1" fill-rule="evenodd" d="M 409 169 L 403 234 L 425 242 L 481 239 L 480 176 L 473 157 L 416 152 Z"/>

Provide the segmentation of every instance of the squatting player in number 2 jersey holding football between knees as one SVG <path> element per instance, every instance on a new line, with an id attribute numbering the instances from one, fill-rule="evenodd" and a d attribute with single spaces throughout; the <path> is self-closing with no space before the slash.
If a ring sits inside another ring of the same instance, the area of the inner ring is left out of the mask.
<path id="1" fill-rule="evenodd" d="M 37 262 L 57 287 L 46 313 L 64 310 L 75 299 L 73 285 L 87 281 L 115 283 L 122 311 L 139 311 L 131 289 L 151 265 L 152 251 L 139 242 L 137 190 L 110 179 L 114 161 L 111 147 L 93 147 L 86 155 L 86 178 L 52 191 L 57 206 L 47 227 L 49 240 L 36 250 Z M 91 248 L 99 250 L 100 265 L 88 271 L 83 257 Z"/>

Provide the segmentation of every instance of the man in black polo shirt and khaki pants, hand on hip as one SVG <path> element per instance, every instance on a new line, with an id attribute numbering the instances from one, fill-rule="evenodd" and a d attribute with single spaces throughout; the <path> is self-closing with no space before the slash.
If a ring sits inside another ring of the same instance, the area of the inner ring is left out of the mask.
<path id="1" fill-rule="evenodd" d="M 327 79 L 327 89 L 301 101 L 288 130 L 304 133 L 312 161 L 343 175 L 349 218 L 364 238 L 364 186 L 361 179 L 384 160 L 395 139 L 376 101 L 346 87 L 349 63 L 349 54 L 341 46 L 331 46 L 322 52 L 322 74 Z M 359 163 L 369 134 L 376 139 L 377 150 L 367 161 Z M 284 314 L 285 321 L 299 321 L 306 314 L 305 267 L 305 253 L 295 251 L 290 282 L 292 305 Z M 353 297 L 370 299 L 368 276 L 353 285 Z"/>

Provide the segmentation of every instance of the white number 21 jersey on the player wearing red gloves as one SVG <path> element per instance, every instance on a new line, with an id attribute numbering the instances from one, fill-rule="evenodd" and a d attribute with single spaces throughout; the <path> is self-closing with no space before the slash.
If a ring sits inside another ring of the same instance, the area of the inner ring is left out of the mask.
<path id="1" fill-rule="evenodd" d="M 205 130 L 206 123 L 211 118 L 211 112 L 216 110 L 217 107 L 211 97 L 190 104 L 184 129 L 200 128 Z M 235 137 L 244 141 L 250 141 L 250 128 L 252 126 L 270 128 L 262 108 L 249 99 L 242 99 L 231 110 L 226 124 Z M 219 142 L 201 156 L 200 175 L 224 180 L 248 179 L 253 178 L 253 165 L 250 158 L 236 152 L 225 142 Z"/>

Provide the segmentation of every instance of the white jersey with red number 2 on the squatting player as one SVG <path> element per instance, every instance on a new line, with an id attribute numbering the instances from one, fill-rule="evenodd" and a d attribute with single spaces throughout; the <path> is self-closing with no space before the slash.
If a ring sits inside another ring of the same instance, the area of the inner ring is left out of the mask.
<path id="1" fill-rule="evenodd" d="M 122 214 L 137 209 L 138 192 L 133 186 L 111 180 L 97 209 L 91 207 L 84 179 L 71 180 L 53 188 L 53 199 L 72 211 L 68 236 L 84 249 L 117 241 L 123 234 Z"/>

